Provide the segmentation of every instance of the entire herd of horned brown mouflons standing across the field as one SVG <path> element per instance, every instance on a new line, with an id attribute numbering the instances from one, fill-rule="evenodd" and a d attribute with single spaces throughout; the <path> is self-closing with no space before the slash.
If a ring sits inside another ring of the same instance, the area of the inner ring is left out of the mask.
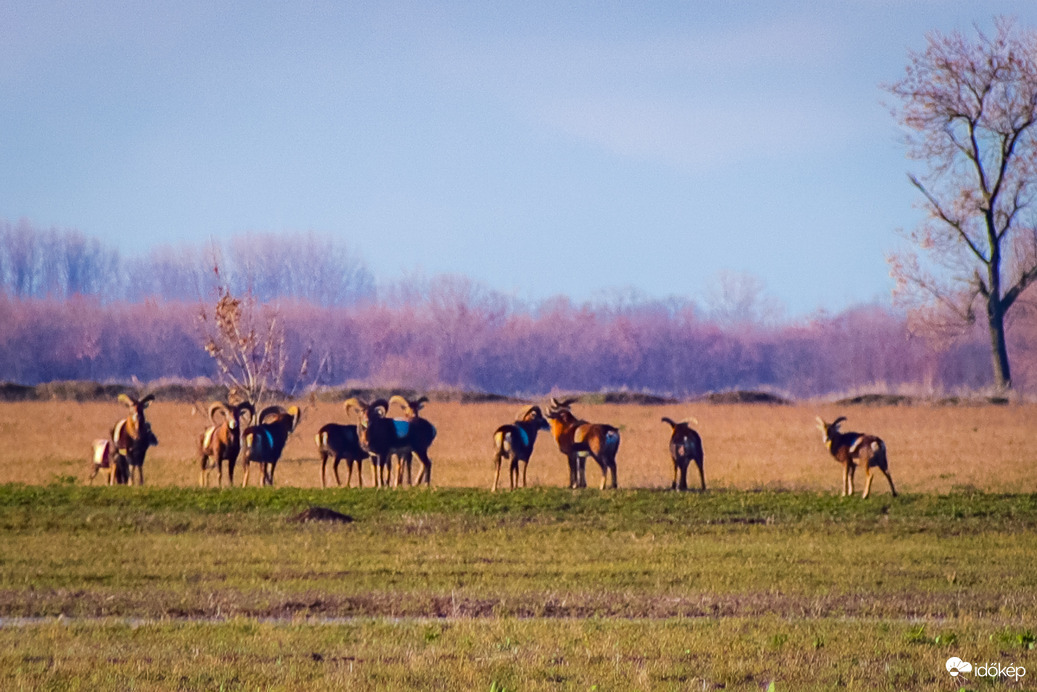
<path id="1" fill-rule="evenodd" d="M 130 409 L 125 418 L 116 422 L 107 438 L 93 442 L 92 471 L 89 479 L 105 471 L 108 485 L 144 483 L 144 455 L 149 447 L 159 444 L 145 418 L 145 409 L 155 400 L 152 394 L 137 399 L 129 394 L 119 394 L 118 402 Z M 541 431 L 550 432 L 569 469 L 569 488 L 586 488 L 587 459 L 594 461 L 601 471 L 599 488 L 618 488 L 616 477 L 617 455 L 619 453 L 620 428 L 609 423 L 588 422 L 572 412 L 577 397 L 550 399 L 546 413 L 540 406 L 524 408 L 514 421 L 505 423 L 494 431 L 494 481 L 492 490 L 500 485 L 501 467 L 508 466 L 508 482 L 511 490 L 526 488 L 526 470 L 533 446 Z M 398 488 L 402 485 L 422 485 L 432 481 L 432 460 L 429 447 L 436 440 L 436 426 L 421 415 L 428 398 L 422 396 L 409 399 L 394 394 L 388 399 L 376 398 L 364 402 L 353 397 L 343 403 L 346 413 L 356 416 L 354 424 L 328 423 L 316 434 L 317 455 L 320 459 L 320 487 L 327 488 L 328 462 L 332 462 L 335 483 L 341 486 L 339 464 L 346 463 L 346 487 L 353 483 L 356 467 L 357 483 L 364 487 L 364 462 L 371 469 L 374 488 Z M 390 415 L 396 407 L 399 417 Z M 196 407 L 197 408 L 197 407 Z M 227 483 L 233 486 L 234 467 L 241 463 L 244 468 L 242 486 L 248 486 L 249 471 L 258 464 L 261 471 L 260 482 L 274 485 L 274 470 L 281 459 L 289 437 L 299 426 L 302 411 L 298 406 L 283 408 L 268 406 L 256 413 L 255 406 L 248 400 L 230 404 L 226 400 L 213 402 L 208 407 L 211 424 L 198 438 L 198 468 L 200 486 L 208 483 L 209 472 L 216 471 L 216 486 L 223 485 L 223 467 L 227 467 Z M 890 475 L 886 443 L 881 438 L 865 433 L 845 433 L 840 424 L 845 416 L 828 423 L 817 418 L 824 446 L 832 456 L 843 467 L 842 495 L 853 494 L 853 474 L 863 466 L 865 483 L 863 498 L 871 493 L 874 471 L 880 471 L 890 483 L 890 492 L 895 497 L 896 487 Z M 699 475 L 699 491 L 706 490 L 703 468 L 704 451 L 702 437 L 692 427 L 698 422 L 692 418 L 674 421 L 664 416 L 662 422 L 670 430 L 669 450 L 673 461 L 672 490 L 686 491 L 688 471 L 695 463 Z M 413 462 L 420 463 L 417 479 L 413 477 Z"/>

